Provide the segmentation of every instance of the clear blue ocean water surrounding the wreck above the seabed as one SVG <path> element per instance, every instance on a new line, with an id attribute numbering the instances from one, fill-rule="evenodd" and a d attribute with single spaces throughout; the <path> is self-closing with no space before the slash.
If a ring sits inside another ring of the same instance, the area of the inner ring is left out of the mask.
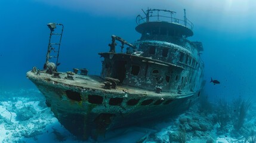
<path id="1" fill-rule="evenodd" d="M 109 51 L 107 45 L 113 34 L 128 42 L 139 39 L 134 29 L 135 17 L 141 14 L 141 8 L 151 7 L 177 11 L 181 18 L 186 8 L 187 18 L 195 24 L 194 36 L 189 39 L 201 41 L 204 47 L 205 92 L 209 101 L 218 102 L 221 98 L 232 104 L 234 99 L 242 97 L 254 103 L 255 3 L 252 0 L 0 1 L 0 96 L 11 91 L 22 96 L 29 92 L 18 91 L 37 91 L 26 79 L 26 72 L 33 66 L 42 69 L 44 65 L 50 33 L 47 23 L 64 24 L 58 71 L 79 67 L 89 69 L 90 74 L 100 74 L 101 59 L 97 53 Z M 211 77 L 219 80 L 220 85 L 209 83 Z"/>

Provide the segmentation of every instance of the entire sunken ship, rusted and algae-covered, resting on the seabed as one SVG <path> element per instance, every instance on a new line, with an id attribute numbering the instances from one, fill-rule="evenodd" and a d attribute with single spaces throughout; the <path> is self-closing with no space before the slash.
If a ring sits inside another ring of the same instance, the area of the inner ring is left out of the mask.
<path id="1" fill-rule="evenodd" d="M 187 39 L 193 36 L 193 23 L 186 10 L 182 19 L 169 10 L 143 13 L 136 18 L 140 39 L 129 43 L 112 35 L 109 51 L 98 53 L 104 58 L 98 76 L 88 69 L 57 71 L 63 24 L 48 24 L 44 69 L 33 67 L 26 75 L 61 125 L 78 138 L 97 139 L 109 130 L 171 116 L 198 100 L 204 84 L 203 46 Z M 52 42 L 53 36 L 58 42 Z"/>

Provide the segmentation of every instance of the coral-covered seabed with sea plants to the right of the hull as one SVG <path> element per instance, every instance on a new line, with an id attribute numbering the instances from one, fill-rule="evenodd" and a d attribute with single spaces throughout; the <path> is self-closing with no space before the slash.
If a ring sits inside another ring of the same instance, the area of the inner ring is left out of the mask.
<path id="1" fill-rule="evenodd" d="M 202 98 L 205 98 L 202 96 Z M 206 99 L 206 98 L 205 98 Z M 240 101 L 245 101 L 241 100 Z M 253 131 L 256 128 L 256 118 L 252 116 L 255 112 L 255 107 L 248 110 L 246 123 L 238 130 L 236 124 L 231 117 L 234 117 L 232 104 L 224 104 L 223 101 L 217 103 L 196 104 L 186 113 L 176 117 L 174 122 L 171 120 L 169 125 L 160 128 L 158 133 L 149 136 L 147 142 L 251 142 L 256 141 L 256 133 Z M 211 104 L 211 105 L 208 105 Z M 241 106 L 241 105 L 240 105 Z M 203 109 L 202 109 L 203 108 Z M 220 110 L 226 110 L 221 111 Z M 220 125 L 215 117 L 218 114 L 229 114 L 226 117 L 227 123 Z"/>

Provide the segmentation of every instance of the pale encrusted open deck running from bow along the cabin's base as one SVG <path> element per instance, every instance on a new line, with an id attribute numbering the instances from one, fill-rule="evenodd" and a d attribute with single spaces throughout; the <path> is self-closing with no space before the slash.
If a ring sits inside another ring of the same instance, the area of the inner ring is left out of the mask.
<path id="1" fill-rule="evenodd" d="M 186 91 L 186 92 L 161 92 L 160 94 L 156 93 L 155 90 L 149 91 L 147 89 L 135 88 L 127 85 L 117 85 L 116 89 L 106 89 L 104 88 L 104 80 L 100 76 L 85 76 L 81 74 L 75 74 L 72 79 L 66 79 L 67 73 L 61 72 L 60 78 L 53 77 L 52 74 L 41 72 L 40 74 L 35 74 L 32 71 L 27 72 L 27 77 L 30 80 L 36 80 L 37 82 L 48 82 L 49 85 L 61 84 L 64 86 L 70 86 L 80 89 L 95 89 L 103 92 L 115 92 L 115 94 L 124 94 L 124 92 L 129 95 L 144 95 L 147 97 L 168 97 L 168 98 L 184 98 L 190 97 L 195 94 L 195 92 Z"/>

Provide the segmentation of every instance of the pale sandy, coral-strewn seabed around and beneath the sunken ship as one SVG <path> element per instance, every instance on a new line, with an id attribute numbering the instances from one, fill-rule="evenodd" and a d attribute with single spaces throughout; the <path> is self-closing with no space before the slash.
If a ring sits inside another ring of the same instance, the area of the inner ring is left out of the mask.
<path id="1" fill-rule="evenodd" d="M 243 130 L 255 130 L 255 110 L 252 110 L 255 107 L 251 107 Z M 214 122 L 214 119 L 214 111 L 202 111 L 199 105 L 194 105 L 172 119 L 110 131 L 98 142 L 246 142 L 246 137 L 242 135 L 246 131 L 235 133 L 231 122 L 220 129 L 220 123 Z M 183 141 L 179 140 L 182 136 L 185 138 Z M 37 89 L 17 89 L 0 91 L 0 142 L 83 141 L 60 125 L 45 105 L 41 92 Z M 95 141 L 90 139 L 87 142 Z"/>

